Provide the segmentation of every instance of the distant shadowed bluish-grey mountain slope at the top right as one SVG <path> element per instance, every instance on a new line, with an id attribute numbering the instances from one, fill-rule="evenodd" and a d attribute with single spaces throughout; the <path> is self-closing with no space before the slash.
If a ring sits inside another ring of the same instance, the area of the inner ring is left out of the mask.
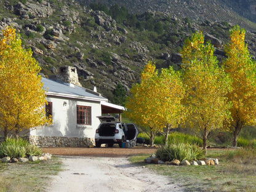
<path id="1" fill-rule="evenodd" d="M 190 20 L 203 22 L 236 23 L 244 28 L 255 29 L 256 1 L 255 0 L 78 0 L 89 6 L 97 2 L 127 7 L 130 12 L 142 14 L 148 10 L 174 14 L 178 17 L 188 17 Z M 241 17 L 242 16 L 242 17 Z M 245 20 L 244 18 L 250 20 Z M 252 26 L 254 25 L 254 26 Z"/>

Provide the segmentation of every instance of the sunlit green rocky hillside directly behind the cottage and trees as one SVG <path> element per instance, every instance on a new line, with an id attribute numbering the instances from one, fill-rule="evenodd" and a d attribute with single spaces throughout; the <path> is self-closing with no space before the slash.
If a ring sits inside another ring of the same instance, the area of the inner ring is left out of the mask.
<path id="1" fill-rule="evenodd" d="M 71 0 L 0 1 L 0 15 L 0 28 L 17 28 L 24 46 L 33 50 L 44 76 L 55 78 L 59 66 L 75 66 L 82 86 L 96 86 L 111 101 L 118 84 L 129 91 L 139 81 L 148 60 L 153 60 L 157 68 L 172 65 L 178 70 L 182 62 L 179 50 L 195 31 L 206 34 L 221 61 L 225 57 L 223 44 L 228 41 L 232 26 L 221 20 L 192 20 L 183 17 L 183 12 L 126 12 L 126 18 L 121 20 L 120 15 L 111 17 Z M 200 14 L 196 15 L 199 18 Z M 249 49 L 255 55 L 256 34 L 247 31 Z"/>

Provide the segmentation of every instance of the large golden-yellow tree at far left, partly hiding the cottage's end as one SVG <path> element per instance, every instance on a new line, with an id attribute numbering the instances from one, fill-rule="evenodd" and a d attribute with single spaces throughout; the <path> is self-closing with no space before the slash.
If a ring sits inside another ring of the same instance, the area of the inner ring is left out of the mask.
<path id="1" fill-rule="evenodd" d="M 18 135 L 50 122 L 46 118 L 41 70 L 30 49 L 22 47 L 15 29 L 7 27 L 0 39 L 0 129 L 4 137 Z"/>

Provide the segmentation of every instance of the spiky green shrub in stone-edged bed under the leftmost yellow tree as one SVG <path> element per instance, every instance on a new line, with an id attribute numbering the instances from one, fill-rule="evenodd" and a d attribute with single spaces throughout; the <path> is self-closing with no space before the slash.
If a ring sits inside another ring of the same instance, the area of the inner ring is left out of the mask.
<path id="1" fill-rule="evenodd" d="M 0 145 L 0 158 L 9 156 L 10 158 L 24 158 L 30 155 L 41 155 L 42 151 L 34 145 L 31 145 L 24 138 L 7 137 Z"/>

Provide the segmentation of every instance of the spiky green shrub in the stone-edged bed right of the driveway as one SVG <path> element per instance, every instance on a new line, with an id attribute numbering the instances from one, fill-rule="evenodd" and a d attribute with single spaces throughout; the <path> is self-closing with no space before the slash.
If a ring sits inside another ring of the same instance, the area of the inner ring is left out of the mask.
<path id="1" fill-rule="evenodd" d="M 188 160 L 193 161 L 201 158 L 204 154 L 198 145 L 191 145 L 189 143 L 172 143 L 168 146 L 161 146 L 156 151 L 156 157 L 162 161 L 179 161 Z"/>

